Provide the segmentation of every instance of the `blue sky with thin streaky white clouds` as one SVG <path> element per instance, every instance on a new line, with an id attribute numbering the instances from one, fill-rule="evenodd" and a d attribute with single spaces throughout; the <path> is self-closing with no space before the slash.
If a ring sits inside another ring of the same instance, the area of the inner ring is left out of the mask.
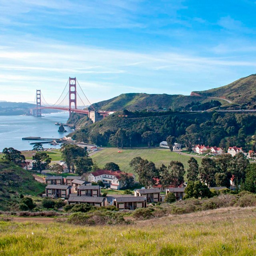
<path id="1" fill-rule="evenodd" d="M 0 0 L 0 100 L 189 95 L 254 74 L 255 0 Z"/>

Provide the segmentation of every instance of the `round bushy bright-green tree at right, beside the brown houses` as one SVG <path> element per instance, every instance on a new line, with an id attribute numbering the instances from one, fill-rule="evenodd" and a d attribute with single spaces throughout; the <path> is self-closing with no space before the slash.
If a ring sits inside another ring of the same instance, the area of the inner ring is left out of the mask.
<path id="1" fill-rule="evenodd" d="M 188 185 L 184 190 L 185 196 L 184 199 L 187 198 L 204 198 L 211 197 L 210 189 L 202 184 L 199 180 L 197 181 L 189 181 Z"/>

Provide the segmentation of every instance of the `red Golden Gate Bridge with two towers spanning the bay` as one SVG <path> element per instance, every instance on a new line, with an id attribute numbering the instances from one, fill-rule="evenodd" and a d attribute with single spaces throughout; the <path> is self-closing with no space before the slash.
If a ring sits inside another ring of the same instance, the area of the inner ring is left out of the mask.
<path id="1" fill-rule="evenodd" d="M 53 105 L 50 105 L 46 102 L 41 90 L 36 90 L 35 103 L 36 108 L 31 109 L 31 114 L 38 117 L 42 116 L 42 109 L 65 110 L 69 112 L 69 115 L 72 112 L 85 114 L 88 115 L 88 117 L 93 122 L 101 120 L 110 114 L 109 111 L 95 110 L 95 108 L 84 94 L 76 78 L 68 79 L 62 94 Z"/>

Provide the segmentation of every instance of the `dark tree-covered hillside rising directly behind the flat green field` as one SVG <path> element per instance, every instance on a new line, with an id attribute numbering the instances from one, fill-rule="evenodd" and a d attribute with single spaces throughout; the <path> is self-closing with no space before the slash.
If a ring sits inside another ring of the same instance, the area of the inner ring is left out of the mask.
<path id="1" fill-rule="evenodd" d="M 146 112 L 125 111 L 127 117 L 109 117 L 98 124 L 86 126 L 75 132 L 73 138 L 102 146 L 132 147 L 158 145 L 168 136 L 192 150 L 196 144 L 219 146 L 228 149 L 239 146 L 251 150 L 254 143 L 256 116 L 254 114 L 234 113 L 196 113 L 168 112 L 152 116 Z M 140 117 L 136 116 L 139 115 Z M 194 118 L 193 118 L 194 117 Z M 256 137 L 256 136 L 255 136 Z M 254 145 L 254 148 L 256 146 Z"/>

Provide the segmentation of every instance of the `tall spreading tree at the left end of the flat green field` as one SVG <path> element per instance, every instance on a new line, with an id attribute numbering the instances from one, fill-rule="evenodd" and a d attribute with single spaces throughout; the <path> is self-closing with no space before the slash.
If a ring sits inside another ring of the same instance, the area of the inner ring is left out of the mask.
<path id="1" fill-rule="evenodd" d="M 75 159 L 78 156 L 88 156 L 87 148 L 81 148 L 72 144 L 63 144 L 61 147 L 62 158 L 66 162 L 67 167 L 72 172 L 75 171 Z"/>

